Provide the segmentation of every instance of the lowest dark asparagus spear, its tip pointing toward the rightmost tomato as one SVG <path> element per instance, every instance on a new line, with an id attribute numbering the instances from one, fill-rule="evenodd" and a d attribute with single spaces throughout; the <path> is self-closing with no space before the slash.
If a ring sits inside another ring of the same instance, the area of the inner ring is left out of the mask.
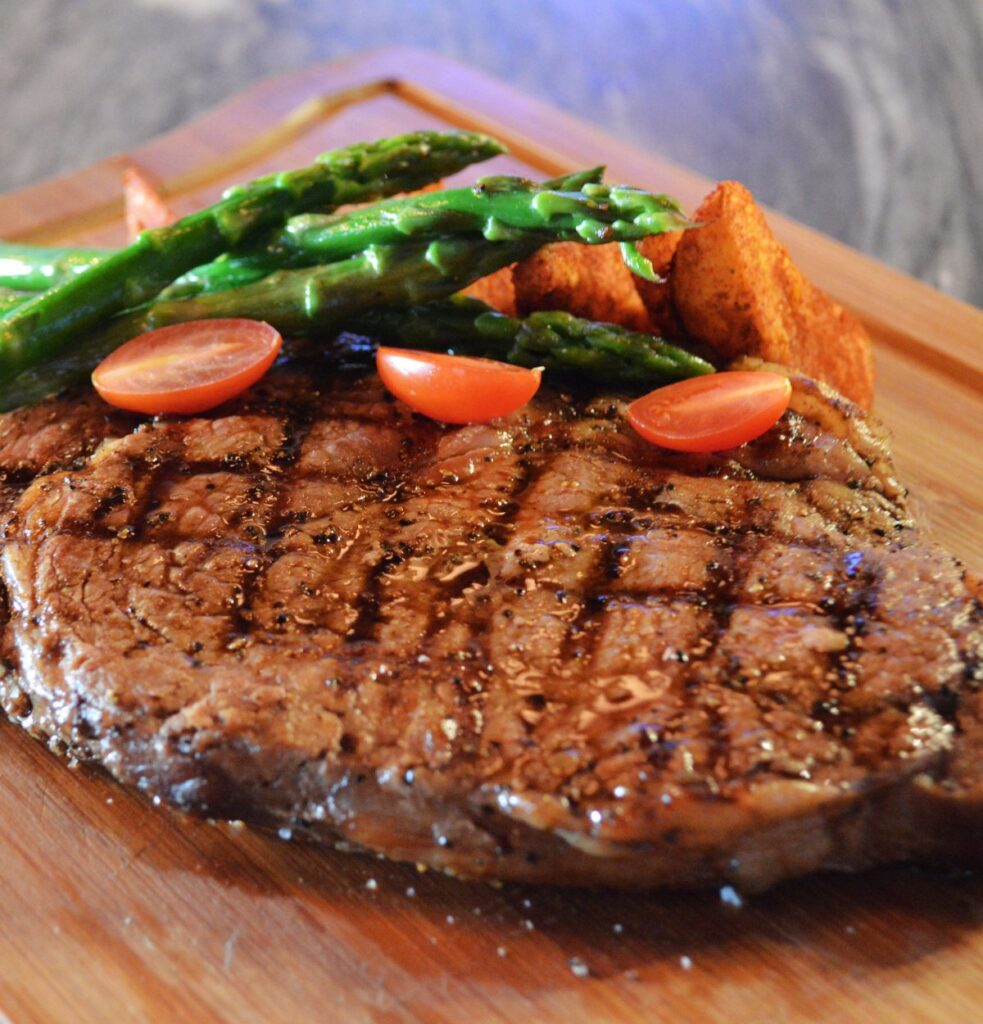
<path id="1" fill-rule="evenodd" d="M 559 311 L 516 318 L 463 295 L 411 309 L 376 307 L 345 328 L 408 348 L 452 349 L 606 385 L 654 386 L 714 372 L 706 359 L 652 335 Z"/>

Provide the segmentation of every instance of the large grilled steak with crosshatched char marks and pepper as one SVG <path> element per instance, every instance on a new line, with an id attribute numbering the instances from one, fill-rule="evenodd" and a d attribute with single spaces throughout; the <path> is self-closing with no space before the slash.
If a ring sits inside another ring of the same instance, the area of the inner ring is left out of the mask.
<path id="1" fill-rule="evenodd" d="M 466 876 L 762 888 L 983 856 L 980 604 L 879 425 L 795 380 L 718 456 L 371 376 L 0 420 L 2 680 L 180 808 Z"/>

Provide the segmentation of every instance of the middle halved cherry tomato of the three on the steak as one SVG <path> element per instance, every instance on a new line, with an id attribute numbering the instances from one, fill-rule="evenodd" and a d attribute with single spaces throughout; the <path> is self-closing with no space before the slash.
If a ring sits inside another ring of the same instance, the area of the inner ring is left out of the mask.
<path id="1" fill-rule="evenodd" d="M 536 394 L 543 375 L 497 359 L 384 346 L 376 367 L 397 398 L 442 423 L 484 423 L 515 412 Z"/>

